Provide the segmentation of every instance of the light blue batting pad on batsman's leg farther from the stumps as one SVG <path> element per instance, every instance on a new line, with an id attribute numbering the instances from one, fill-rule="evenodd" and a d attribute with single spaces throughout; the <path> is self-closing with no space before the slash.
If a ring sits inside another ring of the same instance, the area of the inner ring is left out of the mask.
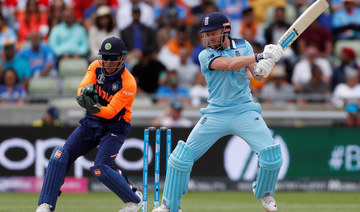
<path id="1" fill-rule="evenodd" d="M 282 165 L 280 144 L 263 149 L 259 154 L 259 173 L 255 183 L 255 198 L 273 196 Z"/>

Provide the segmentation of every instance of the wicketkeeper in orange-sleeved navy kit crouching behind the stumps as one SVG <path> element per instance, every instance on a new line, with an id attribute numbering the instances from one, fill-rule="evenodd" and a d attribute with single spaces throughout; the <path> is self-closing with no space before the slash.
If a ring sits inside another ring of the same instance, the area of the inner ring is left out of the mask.
<path id="1" fill-rule="evenodd" d="M 120 212 L 135 212 L 141 208 L 142 193 L 114 166 L 130 132 L 136 82 L 124 66 L 127 50 L 122 40 L 105 39 L 99 55 L 101 58 L 89 65 L 77 90 L 76 100 L 86 109 L 86 116 L 65 144 L 53 150 L 36 212 L 55 210 L 69 167 L 96 147 L 98 152 L 90 167 L 91 173 L 125 203 Z"/>

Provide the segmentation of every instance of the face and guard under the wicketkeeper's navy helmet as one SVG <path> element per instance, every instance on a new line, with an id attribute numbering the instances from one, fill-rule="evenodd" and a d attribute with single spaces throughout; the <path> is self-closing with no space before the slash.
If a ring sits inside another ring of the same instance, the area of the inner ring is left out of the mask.
<path id="1" fill-rule="evenodd" d="M 99 60 L 101 62 L 103 74 L 105 76 L 112 76 L 117 74 L 124 66 L 126 61 L 126 54 L 120 55 L 101 55 Z M 120 60 L 118 60 L 120 57 Z"/>

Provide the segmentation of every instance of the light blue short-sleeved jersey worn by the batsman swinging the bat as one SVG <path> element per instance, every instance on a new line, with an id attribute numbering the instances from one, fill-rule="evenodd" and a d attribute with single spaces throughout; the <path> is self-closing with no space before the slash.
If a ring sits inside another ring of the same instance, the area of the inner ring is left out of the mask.
<path id="1" fill-rule="evenodd" d="M 213 70 L 211 63 L 218 57 L 236 57 L 253 55 L 250 43 L 243 39 L 230 39 L 225 50 L 204 49 L 199 54 L 201 71 L 209 89 L 209 107 L 234 107 L 252 101 L 247 76 L 247 67 L 238 70 Z"/>

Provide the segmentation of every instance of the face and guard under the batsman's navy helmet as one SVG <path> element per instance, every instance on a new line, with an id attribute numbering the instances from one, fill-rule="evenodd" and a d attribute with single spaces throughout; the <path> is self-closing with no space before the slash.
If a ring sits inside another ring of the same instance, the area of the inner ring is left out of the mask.
<path id="1" fill-rule="evenodd" d="M 215 36 L 208 36 L 208 32 L 202 33 L 201 44 L 205 49 L 212 48 L 214 50 L 221 49 L 225 43 L 226 34 L 230 33 L 230 23 L 223 24 L 222 33 Z"/>

